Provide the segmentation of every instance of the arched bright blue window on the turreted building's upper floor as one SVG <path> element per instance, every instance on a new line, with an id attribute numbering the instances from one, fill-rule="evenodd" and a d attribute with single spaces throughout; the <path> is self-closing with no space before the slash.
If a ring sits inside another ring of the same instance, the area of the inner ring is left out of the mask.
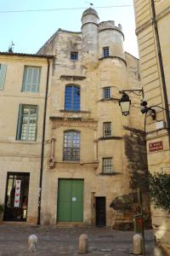
<path id="1" fill-rule="evenodd" d="M 80 111 L 80 87 L 78 85 L 65 86 L 65 110 Z"/>

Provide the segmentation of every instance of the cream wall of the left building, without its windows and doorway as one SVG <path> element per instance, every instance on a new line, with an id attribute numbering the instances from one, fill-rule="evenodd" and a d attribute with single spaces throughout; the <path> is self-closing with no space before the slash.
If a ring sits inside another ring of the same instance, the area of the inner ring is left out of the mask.
<path id="1" fill-rule="evenodd" d="M 49 57 L 49 61 L 50 57 Z M 37 223 L 37 201 L 42 150 L 42 122 L 47 84 L 48 58 L 38 55 L 0 54 L 1 65 L 7 65 L 3 90 L 0 90 L 0 201 L 5 201 L 8 172 L 30 173 L 27 221 Z M 41 67 L 40 90 L 22 91 L 24 68 Z M 50 65 L 52 67 L 52 64 Z M 50 83 L 50 81 L 49 81 Z M 37 140 L 16 139 L 20 104 L 38 108 Z M 48 134 L 48 127 L 47 127 Z"/>

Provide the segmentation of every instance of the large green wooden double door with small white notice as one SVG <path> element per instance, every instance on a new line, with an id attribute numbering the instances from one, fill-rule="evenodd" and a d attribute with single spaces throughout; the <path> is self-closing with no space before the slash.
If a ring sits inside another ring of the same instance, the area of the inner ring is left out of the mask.
<path id="1" fill-rule="evenodd" d="M 59 179 L 58 221 L 83 220 L 83 180 Z"/>

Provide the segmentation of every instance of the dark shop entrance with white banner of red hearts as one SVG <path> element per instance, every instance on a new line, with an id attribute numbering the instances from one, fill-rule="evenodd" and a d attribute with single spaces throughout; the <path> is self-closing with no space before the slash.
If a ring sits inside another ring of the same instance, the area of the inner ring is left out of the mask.
<path id="1" fill-rule="evenodd" d="M 26 221 L 30 173 L 8 172 L 4 220 Z"/>

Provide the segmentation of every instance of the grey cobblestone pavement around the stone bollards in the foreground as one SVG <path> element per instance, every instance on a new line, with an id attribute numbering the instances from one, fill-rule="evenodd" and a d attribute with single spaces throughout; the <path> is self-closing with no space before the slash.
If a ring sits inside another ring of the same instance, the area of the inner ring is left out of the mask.
<path id="1" fill-rule="evenodd" d="M 37 253 L 27 253 L 27 239 L 38 237 Z M 88 235 L 89 256 L 131 256 L 132 231 L 97 227 L 58 227 L 0 224 L 0 256 L 58 256 L 78 254 L 78 237 Z M 153 256 L 152 231 L 145 231 L 146 256 Z"/>

